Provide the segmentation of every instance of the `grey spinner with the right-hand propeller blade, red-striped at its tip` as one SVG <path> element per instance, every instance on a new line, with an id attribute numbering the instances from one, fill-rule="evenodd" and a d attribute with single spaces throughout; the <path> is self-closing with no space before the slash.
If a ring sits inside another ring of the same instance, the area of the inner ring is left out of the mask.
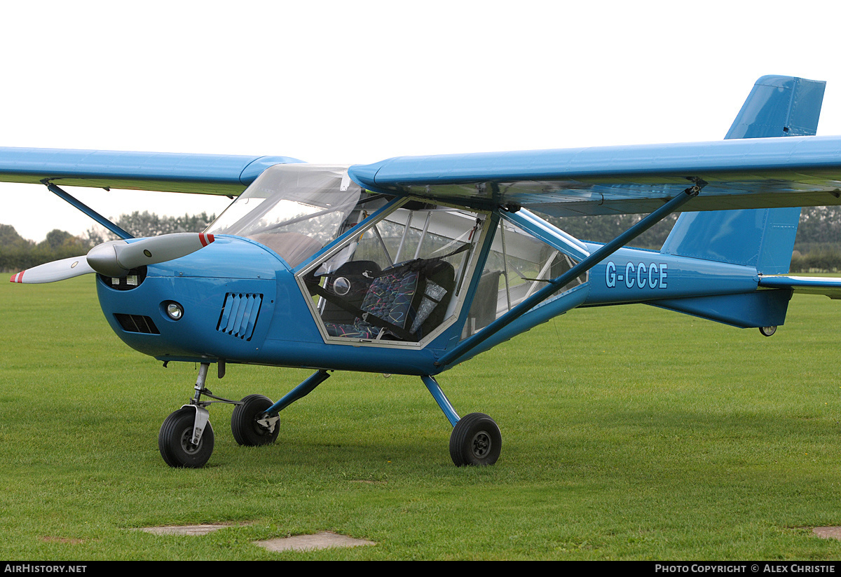
<path id="1" fill-rule="evenodd" d="M 186 257 L 213 241 L 213 235 L 177 232 L 136 242 L 106 242 L 87 253 L 87 263 L 107 277 L 124 277 L 132 268 Z"/>

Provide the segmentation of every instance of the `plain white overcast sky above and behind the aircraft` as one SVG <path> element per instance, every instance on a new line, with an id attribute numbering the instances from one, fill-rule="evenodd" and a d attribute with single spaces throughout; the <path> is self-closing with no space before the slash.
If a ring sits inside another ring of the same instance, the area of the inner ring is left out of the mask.
<path id="1" fill-rule="evenodd" d="M 0 146 L 391 156 L 718 140 L 754 81 L 828 82 L 830 2 L 115 2 L 3 6 Z M 202 195 L 73 188 L 106 216 L 219 213 Z M 0 184 L 40 241 L 93 221 Z"/>

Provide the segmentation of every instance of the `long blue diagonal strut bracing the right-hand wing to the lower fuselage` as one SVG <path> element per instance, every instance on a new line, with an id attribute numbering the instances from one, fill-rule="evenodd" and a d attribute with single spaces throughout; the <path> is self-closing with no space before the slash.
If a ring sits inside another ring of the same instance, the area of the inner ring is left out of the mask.
<path id="1" fill-rule="evenodd" d="M 537 304 L 540 304 L 551 297 L 558 291 L 558 289 L 561 289 L 574 278 L 578 278 L 582 274 L 586 273 L 590 270 L 590 268 L 595 267 L 596 264 L 605 260 L 607 257 L 610 257 L 611 254 L 618 251 L 622 246 L 627 245 L 628 242 L 637 238 L 637 236 L 640 236 L 653 225 L 656 225 L 660 220 L 663 220 L 666 216 L 679 209 L 680 206 L 689 202 L 691 199 L 694 199 L 698 196 L 698 193 L 701 193 L 701 188 L 706 186 L 706 182 L 698 177 L 690 178 L 690 180 L 695 183 L 693 186 L 686 188 L 682 193 L 678 194 L 673 199 L 670 199 L 669 202 L 661 206 L 659 209 L 654 210 L 651 214 L 648 214 L 648 216 L 643 218 L 643 220 L 637 222 L 636 225 L 633 225 L 631 228 L 621 233 L 621 235 L 616 236 L 615 239 L 608 242 L 605 246 L 602 246 L 599 250 L 590 254 L 589 257 L 585 257 L 581 262 L 570 268 L 566 273 L 563 273 L 558 278 L 550 280 L 547 286 L 538 290 L 537 293 L 532 294 L 532 296 L 523 300 L 520 304 L 517 304 L 516 307 L 509 310 L 505 313 L 505 315 L 500 316 L 499 319 L 484 327 L 482 331 L 479 331 L 475 335 L 458 343 L 452 351 L 445 353 L 436 361 L 436 366 L 447 366 L 455 361 L 458 361 L 460 357 L 463 357 L 473 348 L 478 347 L 490 336 L 494 336 L 497 332 L 505 328 L 505 326 L 508 326 L 512 321 L 520 318 L 522 315 L 525 315 L 526 312 L 532 310 L 532 308 L 537 306 Z"/>

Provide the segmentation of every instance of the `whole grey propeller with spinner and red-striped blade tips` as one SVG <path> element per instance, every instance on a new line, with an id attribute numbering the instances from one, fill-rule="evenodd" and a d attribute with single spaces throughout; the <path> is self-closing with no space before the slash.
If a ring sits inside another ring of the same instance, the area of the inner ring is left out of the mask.
<path id="1" fill-rule="evenodd" d="M 9 281 L 24 284 L 54 283 L 87 273 L 124 277 L 132 268 L 186 257 L 213 241 L 213 235 L 195 232 L 177 232 L 135 242 L 108 241 L 94 246 L 86 257 L 47 262 L 17 273 Z"/>

